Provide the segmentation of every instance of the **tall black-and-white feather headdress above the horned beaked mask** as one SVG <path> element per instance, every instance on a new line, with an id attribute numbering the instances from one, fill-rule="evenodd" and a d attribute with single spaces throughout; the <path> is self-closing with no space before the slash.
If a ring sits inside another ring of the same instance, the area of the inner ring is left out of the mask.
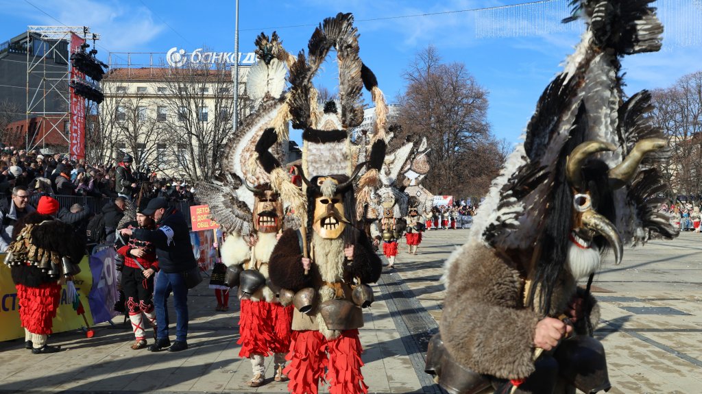
<path id="1" fill-rule="evenodd" d="M 588 30 L 574 54 L 569 56 L 564 72 L 541 95 L 527 126 L 524 144 L 508 157 L 505 168 L 480 206 L 471 237 L 504 250 L 529 252 L 541 234 L 550 231 L 546 222 L 548 215 L 554 215 L 554 205 L 567 200 L 557 196 L 571 198 L 573 195 L 565 172 L 558 169 L 578 143 L 597 140 L 614 144 L 616 149 L 595 154 L 593 158 L 615 168 L 630 155 L 636 142 L 661 136 L 644 120 L 650 108 L 648 93 L 637 94 L 621 104 L 621 77 L 618 76 L 619 57 L 659 47 L 662 27 L 649 3 L 651 1 L 646 0 L 574 1 L 578 13 L 589 18 L 586 20 Z M 649 168 L 664 154 L 657 152 L 646 157 L 640 170 Z M 653 182 L 658 183 L 662 184 Z M 515 201 L 504 189 L 519 184 L 528 185 L 531 191 L 522 193 L 522 198 Z M 616 217 L 611 219 L 616 220 L 622 238 L 632 240 L 634 233 L 647 233 L 640 227 L 644 223 L 656 224 L 651 231 L 661 230 L 664 236 L 671 234 L 658 225 L 660 218 L 652 215 L 649 208 L 632 202 L 645 200 L 641 196 L 646 187 L 642 184 L 635 187 L 635 184 L 633 181 L 625 189 L 614 191 Z M 638 191 L 636 198 L 631 194 L 632 187 Z M 632 196 L 629 201 L 628 196 Z M 527 210 L 529 215 L 525 217 L 523 213 Z M 517 212 L 522 212 L 518 231 L 515 227 Z M 639 216 L 635 216 L 635 212 Z M 646 216 L 640 217 L 644 213 Z"/>

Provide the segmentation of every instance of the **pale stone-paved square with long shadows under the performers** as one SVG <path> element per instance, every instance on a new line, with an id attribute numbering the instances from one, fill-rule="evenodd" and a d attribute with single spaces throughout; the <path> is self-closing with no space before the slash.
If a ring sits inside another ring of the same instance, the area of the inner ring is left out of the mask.
<path id="1" fill-rule="evenodd" d="M 425 233 L 419 254 L 401 245 L 396 269 L 385 269 L 374 287 L 376 302 L 364 311 L 363 374 L 371 393 L 440 393 L 424 374 L 426 341 L 437 330 L 446 257 L 467 230 Z M 682 233 L 625 250 L 621 266 L 606 261 L 593 290 L 602 306 L 597 337 L 607 349 L 610 393 L 698 393 L 702 387 L 702 235 Z M 284 393 L 272 381 L 245 385 L 248 360 L 238 358 L 237 302 L 215 312 L 206 281 L 189 297 L 190 349 L 180 353 L 133 351 L 131 327 L 95 327 L 55 334 L 65 351 L 32 355 L 22 341 L 0 344 L 0 392 L 54 393 Z M 171 310 L 171 314 L 173 311 Z M 1 324 L 1 322 L 0 322 Z M 322 388 L 320 393 L 327 391 Z"/>

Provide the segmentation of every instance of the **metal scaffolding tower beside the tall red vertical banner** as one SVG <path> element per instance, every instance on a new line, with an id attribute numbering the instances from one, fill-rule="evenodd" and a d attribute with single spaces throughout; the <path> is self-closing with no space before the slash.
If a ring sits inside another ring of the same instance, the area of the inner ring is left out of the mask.
<path id="1" fill-rule="evenodd" d="M 100 34 L 92 33 L 88 26 L 28 26 L 27 27 L 27 134 L 25 146 L 27 151 L 41 147 L 46 148 L 46 137 L 51 133 L 60 135 L 66 142 L 70 130 L 70 95 L 69 86 L 71 76 L 70 43 L 71 34 L 75 33 L 87 40 L 97 41 Z M 35 45 L 34 40 L 39 40 Z M 62 50 L 63 48 L 66 50 Z M 50 69 L 48 61 L 52 64 L 60 61 L 66 64 L 65 70 Z M 65 110 L 47 109 L 46 100 L 54 95 L 61 104 L 65 103 Z M 37 122 L 29 130 L 29 121 L 37 118 Z M 49 121 L 49 119 L 51 119 Z M 64 130 L 60 130 L 63 125 Z M 30 136 L 30 134 L 33 135 Z M 37 140 L 37 135 L 41 133 Z"/>

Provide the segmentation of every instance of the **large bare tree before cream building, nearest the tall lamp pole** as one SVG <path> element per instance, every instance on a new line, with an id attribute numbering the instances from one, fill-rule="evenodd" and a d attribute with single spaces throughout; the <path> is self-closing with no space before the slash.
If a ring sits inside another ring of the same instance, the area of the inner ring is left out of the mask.
<path id="1" fill-rule="evenodd" d="M 168 152 L 183 177 L 211 179 L 232 133 L 231 71 L 224 64 L 210 68 L 187 63 L 172 67 L 165 84 L 168 116 L 163 124 Z M 239 120 L 248 106 L 246 95 L 239 95 Z"/>

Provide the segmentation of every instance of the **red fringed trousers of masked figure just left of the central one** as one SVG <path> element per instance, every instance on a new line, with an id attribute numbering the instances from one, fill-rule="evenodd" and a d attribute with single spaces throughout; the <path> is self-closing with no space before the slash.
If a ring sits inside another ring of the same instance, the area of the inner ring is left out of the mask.
<path id="1" fill-rule="evenodd" d="M 241 345 L 239 357 L 286 353 L 290 347 L 292 324 L 292 305 L 242 299 L 237 341 Z"/>

